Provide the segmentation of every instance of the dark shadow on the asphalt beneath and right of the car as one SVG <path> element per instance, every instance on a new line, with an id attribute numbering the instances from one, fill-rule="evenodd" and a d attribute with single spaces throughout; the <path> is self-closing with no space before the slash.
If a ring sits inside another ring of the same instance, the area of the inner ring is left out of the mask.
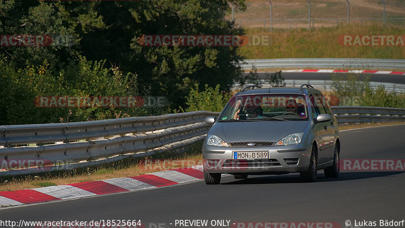
<path id="1" fill-rule="evenodd" d="M 323 173 L 319 173 L 317 182 L 330 182 L 330 181 L 345 181 L 356 179 L 367 179 L 374 177 L 385 177 L 403 173 L 402 171 L 392 172 L 341 172 L 337 178 L 327 178 Z M 231 177 L 232 178 L 232 177 Z M 288 184 L 288 183 L 303 183 L 299 174 L 289 175 L 251 175 L 247 179 L 230 181 L 221 183 L 221 185 L 246 185 L 246 184 Z"/>

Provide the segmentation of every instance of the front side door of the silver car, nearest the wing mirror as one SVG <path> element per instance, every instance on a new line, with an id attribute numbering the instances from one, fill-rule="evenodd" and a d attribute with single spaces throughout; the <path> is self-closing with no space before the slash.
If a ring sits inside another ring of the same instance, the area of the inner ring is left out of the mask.
<path id="1" fill-rule="evenodd" d="M 311 112 L 312 112 L 312 117 L 314 119 L 316 119 L 316 117 L 319 114 L 325 114 L 325 109 L 323 109 L 323 113 L 320 112 L 319 109 L 319 104 L 320 101 L 318 101 L 318 96 L 316 96 L 316 94 L 311 94 L 309 95 L 309 101 L 310 101 L 310 105 L 311 105 Z M 322 107 L 320 105 L 320 107 Z M 328 151 L 325 150 L 325 146 L 328 144 L 329 141 L 329 137 L 328 137 L 328 131 L 327 131 L 327 127 L 326 127 L 326 123 L 316 123 L 314 124 L 313 128 L 312 128 L 312 132 L 315 133 L 316 135 L 316 141 L 318 143 L 318 164 L 322 164 L 325 162 L 328 162 L 329 160 L 329 154 Z"/>

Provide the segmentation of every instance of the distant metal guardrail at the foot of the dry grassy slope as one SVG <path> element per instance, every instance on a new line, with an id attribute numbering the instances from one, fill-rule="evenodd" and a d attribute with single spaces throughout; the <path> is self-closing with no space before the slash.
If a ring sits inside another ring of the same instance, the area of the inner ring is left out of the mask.
<path id="1" fill-rule="evenodd" d="M 378 69 L 405 70 L 405 59 L 248 59 L 241 62 L 243 70 L 257 69 Z"/>

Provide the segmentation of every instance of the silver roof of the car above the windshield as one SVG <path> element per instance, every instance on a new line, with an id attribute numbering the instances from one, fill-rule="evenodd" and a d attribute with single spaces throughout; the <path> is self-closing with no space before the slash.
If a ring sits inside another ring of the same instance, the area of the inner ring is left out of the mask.
<path id="1" fill-rule="evenodd" d="M 297 95 L 308 95 L 311 93 L 320 93 L 318 89 L 315 88 L 305 88 L 302 90 L 297 87 L 271 87 L 271 88 L 253 88 L 241 90 L 236 96 L 242 95 L 256 95 L 256 94 L 297 94 Z"/>

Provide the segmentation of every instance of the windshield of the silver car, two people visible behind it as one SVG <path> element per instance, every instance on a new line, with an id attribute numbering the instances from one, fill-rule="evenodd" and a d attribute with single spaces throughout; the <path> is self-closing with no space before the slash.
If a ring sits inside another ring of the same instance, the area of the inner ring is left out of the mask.
<path id="1" fill-rule="evenodd" d="M 260 94 L 233 96 L 219 120 L 236 121 L 302 121 L 308 120 L 304 95 Z"/>

